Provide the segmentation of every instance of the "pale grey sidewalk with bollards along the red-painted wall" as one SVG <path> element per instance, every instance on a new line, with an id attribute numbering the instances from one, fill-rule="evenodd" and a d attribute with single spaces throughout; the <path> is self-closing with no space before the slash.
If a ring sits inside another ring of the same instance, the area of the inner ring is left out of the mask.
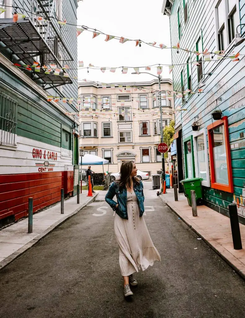
<path id="1" fill-rule="evenodd" d="M 28 218 L 0 230 L 0 269 L 8 265 L 32 245 L 65 220 L 79 212 L 84 206 L 93 202 L 100 191 L 93 197 L 87 197 L 88 191 L 80 194 L 80 204 L 77 197 L 64 201 L 64 214 L 61 214 L 60 202 L 41 212 L 33 214 L 33 233 L 28 233 Z"/>

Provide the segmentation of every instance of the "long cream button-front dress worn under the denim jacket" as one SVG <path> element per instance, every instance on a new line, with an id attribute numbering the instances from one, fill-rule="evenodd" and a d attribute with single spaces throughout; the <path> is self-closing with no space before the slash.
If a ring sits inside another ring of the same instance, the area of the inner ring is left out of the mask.
<path id="1" fill-rule="evenodd" d="M 144 271 L 161 257 L 153 245 L 143 217 L 140 218 L 135 192 L 127 191 L 128 220 L 115 214 L 114 230 L 119 245 L 119 264 L 122 276 Z"/>

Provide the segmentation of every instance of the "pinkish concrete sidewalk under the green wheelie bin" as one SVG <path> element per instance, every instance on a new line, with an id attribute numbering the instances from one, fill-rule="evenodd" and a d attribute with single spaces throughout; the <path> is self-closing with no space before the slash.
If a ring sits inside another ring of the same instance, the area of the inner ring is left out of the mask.
<path id="1" fill-rule="evenodd" d="M 193 217 L 184 194 L 178 193 L 179 201 L 175 202 L 174 189 L 167 189 L 167 192 L 160 195 L 162 201 L 245 279 L 245 225 L 240 224 L 243 249 L 234 250 L 228 217 L 205 205 L 197 206 L 198 216 Z"/>

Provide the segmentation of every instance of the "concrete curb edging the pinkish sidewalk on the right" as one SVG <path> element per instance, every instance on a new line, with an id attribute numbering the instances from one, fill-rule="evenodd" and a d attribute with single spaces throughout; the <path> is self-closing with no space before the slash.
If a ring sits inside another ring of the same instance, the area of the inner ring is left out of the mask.
<path id="1" fill-rule="evenodd" d="M 202 233 L 200 233 L 198 230 L 196 230 L 187 220 L 185 220 L 185 219 L 183 218 L 183 216 L 182 216 L 181 214 L 179 214 L 178 210 L 177 210 L 177 209 L 175 210 L 175 209 L 171 206 L 171 203 L 170 203 L 169 201 L 167 201 L 167 200 L 165 201 L 164 198 L 162 197 L 162 195 L 160 195 L 159 197 L 161 198 L 161 200 L 162 200 L 162 202 L 163 202 L 164 204 L 166 204 L 179 218 L 181 218 L 182 221 L 183 221 L 186 225 L 188 225 L 198 236 L 200 236 L 200 238 L 202 238 L 202 240 L 203 240 L 207 245 L 209 245 L 209 246 L 212 248 L 212 250 L 214 250 L 230 267 L 232 267 L 232 268 L 234 269 L 234 271 L 235 271 L 239 276 L 241 276 L 241 277 L 245 280 L 245 273 L 244 273 L 241 269 L 239 269 L 237 266 L 235 266 L 235 264 L 234 264 L 231 260 L 229 260 L 228 256 L 230 256 L 230 258 L 234 258 L 230 252 L 224 251 L 224 252 L 227 254 L 227 256 L 225 256 L 224 253 L 222 253 L 221 251 L 219 251 L 218 248 L 216 248 L 212 243 L 210 243 L 210 242 L 202 235 Z M 218 244 L 218 245 L 219 245 L 219 244 Z M 219 245 L 219 246 L 221 247 L 221 245 Z M 218 246 L 217 246 L 217 247 L 218 247 Z M 241 263 L 241 264 L 242 264 L 242 263 Z"/>

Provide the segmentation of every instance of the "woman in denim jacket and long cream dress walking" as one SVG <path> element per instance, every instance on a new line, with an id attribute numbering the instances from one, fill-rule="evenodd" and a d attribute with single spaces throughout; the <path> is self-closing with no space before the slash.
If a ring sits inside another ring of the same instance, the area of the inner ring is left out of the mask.
<path id="1" fill-rule="evenodd" d="M 130 285 L 138 285 L 133 273 L 144 271 L 161 260 L 147 230 L 144 213 L 143 183 L 137 177 L 133 161 L 124 161 L 120 179 L 113 182 L 105 196 L 116 211 L 114 230 L 119 245 L 119 265 L 124 280 L 124 296 L 133 295 Z M 117 202 L 113 200 L 116 195 Z"/>

